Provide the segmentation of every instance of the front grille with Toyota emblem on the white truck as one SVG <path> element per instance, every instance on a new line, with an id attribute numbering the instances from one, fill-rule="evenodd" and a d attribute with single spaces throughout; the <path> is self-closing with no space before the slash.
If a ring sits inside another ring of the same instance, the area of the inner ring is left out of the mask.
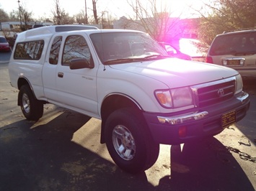
<path id="1" fill-rule="evenodd" d="M 235 80 L 225 81 L 209 86 L 198 87 L 198 106 L 211 106 L 229 100 L 234 95 Z"/>

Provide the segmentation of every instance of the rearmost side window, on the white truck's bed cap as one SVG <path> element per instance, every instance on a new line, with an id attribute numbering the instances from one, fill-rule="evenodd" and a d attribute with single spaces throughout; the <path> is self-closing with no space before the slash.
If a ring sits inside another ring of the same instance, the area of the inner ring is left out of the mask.
<path id="1" fill-rule="evenodd" d="M 39 60 L 43 52 L 44 41 L 19 42 L 14 51 L 14 59 Z"/>

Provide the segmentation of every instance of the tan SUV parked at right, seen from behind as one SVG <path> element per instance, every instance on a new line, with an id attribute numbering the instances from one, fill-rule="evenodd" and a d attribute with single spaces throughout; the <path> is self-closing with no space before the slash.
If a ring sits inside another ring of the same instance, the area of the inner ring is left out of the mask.
<path id="1" fill-rule="evenodd" d="M 234 68 L 243 77 L 256 77 L 256 29 L 217 35 L 206 62 Z"/>

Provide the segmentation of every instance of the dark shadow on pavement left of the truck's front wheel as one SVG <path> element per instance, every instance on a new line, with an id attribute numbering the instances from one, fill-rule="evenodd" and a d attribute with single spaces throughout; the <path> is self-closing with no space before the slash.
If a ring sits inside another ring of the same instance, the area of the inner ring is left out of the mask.
<path id="1" fill-rule="evenodd" d="M 145 173 L 123 172 L 71 141 L 89 119 L 65 111 L 47 124 L 43 118 L 1 127 L 0 190 L 150 190 Z"/>

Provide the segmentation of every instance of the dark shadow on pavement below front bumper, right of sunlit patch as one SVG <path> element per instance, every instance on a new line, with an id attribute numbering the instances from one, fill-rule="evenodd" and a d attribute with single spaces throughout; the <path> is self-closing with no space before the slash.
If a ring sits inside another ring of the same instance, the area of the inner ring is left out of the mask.
<path id="1" fill-rule="evenodd" d="M 171 175 L 157 190 L 255 190 L 229 149 L 210 137 L 171 148 Z"/>

